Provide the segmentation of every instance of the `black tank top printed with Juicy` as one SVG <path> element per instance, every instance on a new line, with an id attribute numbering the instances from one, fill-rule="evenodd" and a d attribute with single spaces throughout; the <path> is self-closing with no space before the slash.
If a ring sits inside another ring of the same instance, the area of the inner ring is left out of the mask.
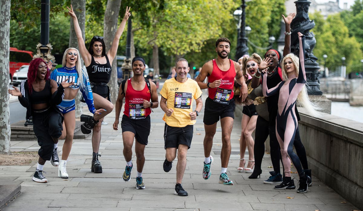
<path id="1" fill-rule="evenodd" d="M 86 67 L 90 82 L 94 84 L 108 83 L 111 78 L 112 66 L 109 58 L 106 56 L 106 64 L 98 64 L 92 56 L 91 64 Z"/>

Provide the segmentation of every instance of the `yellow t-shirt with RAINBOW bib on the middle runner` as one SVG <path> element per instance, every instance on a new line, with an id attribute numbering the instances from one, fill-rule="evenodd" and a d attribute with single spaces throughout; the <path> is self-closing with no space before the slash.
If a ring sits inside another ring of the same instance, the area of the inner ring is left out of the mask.
<path id="1" fill-rule="evenodd" d="M 168 109 L 174 112 L 168 117 L 164 114 L 163 120 L 172 127 L 185 127 L 194 125 L 196 120 L 190 120 L 189 113 L 193 112 L 193 99 L 198 99 L 202 91 L 196 81 L 188 78 L 184 83 L 180 83 L 175 78 L 165 81 L 160 94 L 166 100 Z"/>

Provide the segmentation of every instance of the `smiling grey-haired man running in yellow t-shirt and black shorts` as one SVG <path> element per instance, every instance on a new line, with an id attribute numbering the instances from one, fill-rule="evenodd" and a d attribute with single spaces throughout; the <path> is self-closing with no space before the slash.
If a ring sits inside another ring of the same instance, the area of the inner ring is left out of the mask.
<path id="1" fill-rule="evenodd" d="M 203 107 L 203 101 L 202 91 L 197 82 L 187 78 L 188 61 L 180 58 L 175 66 L 176 77 L 166 80 L 160 92 L 162 96 L 160 107 L 165 112 L 163 120 L 166 122 L 164 128 L 166 159 L 163 168 L 165 172 L 170 171 L 178 149 L 175 194 L 187 196 L 187 191 L 181 186 L 181 180 L 187 165 L 187 150 L 192 143 L 193 125 Z M 193 111 L 193 99 L 196 102 L 195 111 Z"/>

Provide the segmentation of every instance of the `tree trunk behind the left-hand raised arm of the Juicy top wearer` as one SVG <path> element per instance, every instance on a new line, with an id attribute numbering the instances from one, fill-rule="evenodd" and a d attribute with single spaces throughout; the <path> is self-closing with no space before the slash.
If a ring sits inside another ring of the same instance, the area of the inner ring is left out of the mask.
<path id="1" fill-rule="evenodd" d="M 78 24 L 79 27 L 81 27 L 82 31 L 82 37 L 83 40 L 85 40 L 85 23 L 86 23 L 86 0 L 71 0 L 71 4 L 74 10 L 74 13 L 77 15 Z M 74 31 L 74 25 L 73 25 L 73 19 L 70 19 L 70 32 L 69 32 L 69 48 L 77 48 L 78 41 L 76 32 Z M 79 62 L 81 62 L 83 67 L 83 59 L 81 54 L 78 55 Z M 76 118 L 81 117 L 82 114 L 82 107 L 84 106 L 84 103 L 79 101 L 79 98 L 81 98 L 82 93 L 78 92 L 76 96 Z"/>

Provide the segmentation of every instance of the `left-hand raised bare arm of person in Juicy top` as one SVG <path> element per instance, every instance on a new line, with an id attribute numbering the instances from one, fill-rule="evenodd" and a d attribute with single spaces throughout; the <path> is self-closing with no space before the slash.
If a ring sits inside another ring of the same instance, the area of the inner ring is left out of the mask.
<path id="1" fill-rule="evenodd" d="M 77 19 L 76 14 L 73 11 L 72 5 L 70 5 L 70 8 L 67 7 L 67 9 L 68 9 L 68 14 L 73 19 L 74 31 L 76 32 L 76 36 L 77 36 L 79 53 L 81 53 L 83 61 L 85 62 L 85 65 L 87 67 L 91 64 L 92 55 L 88 52 L 88 50 L 85 46 L 85 41 L 83 40 L 83 37 L 82 37 L 81 27 L 79 27 L 78 19 Z"/>

